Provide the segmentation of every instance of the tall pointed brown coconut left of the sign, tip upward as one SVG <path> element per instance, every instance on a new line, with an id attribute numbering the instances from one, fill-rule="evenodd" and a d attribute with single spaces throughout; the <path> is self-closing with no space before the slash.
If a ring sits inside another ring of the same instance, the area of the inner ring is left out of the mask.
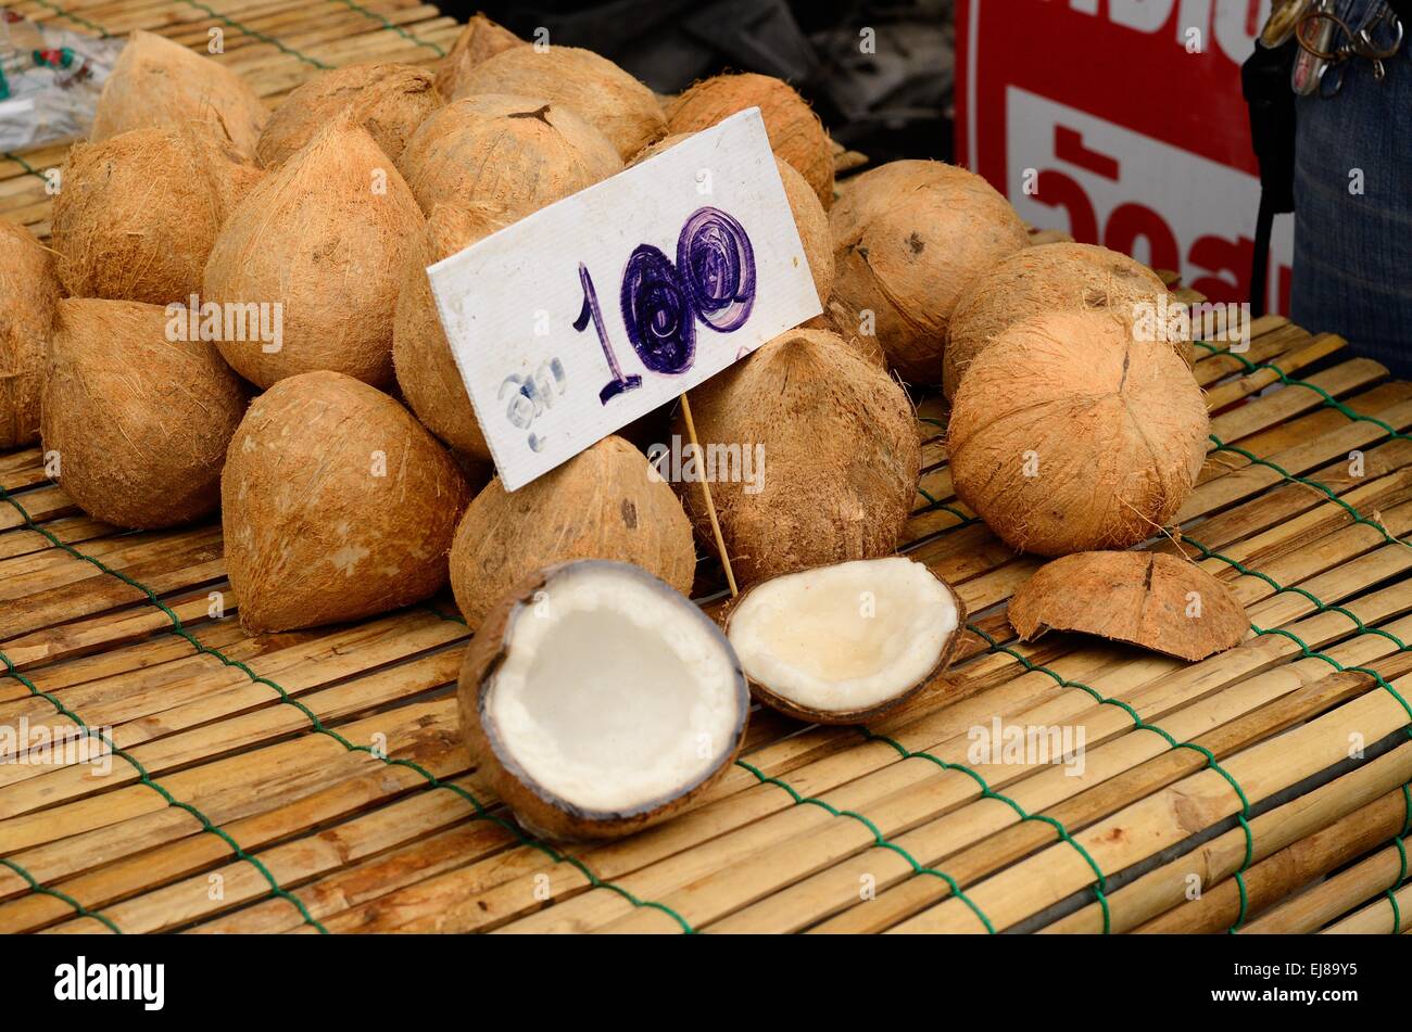
<path id="1" fill-rule="evenodd" d="M 343 111 L 236 206 L 206 262 L 203 302 L 282 305 L 284 341 L 219 341 L 246 379 L 313 369 L 393 378 L 393 314 L 424 226 L 402 176 Z"/>

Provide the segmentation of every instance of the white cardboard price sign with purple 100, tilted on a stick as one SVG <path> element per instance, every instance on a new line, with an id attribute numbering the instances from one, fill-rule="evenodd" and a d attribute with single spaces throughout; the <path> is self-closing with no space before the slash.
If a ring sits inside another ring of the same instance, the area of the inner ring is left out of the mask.
<path id="1" fill-rule="evenodd" d="M 507 491 L 820 312 L 754 107 L 426 274 Z"/>

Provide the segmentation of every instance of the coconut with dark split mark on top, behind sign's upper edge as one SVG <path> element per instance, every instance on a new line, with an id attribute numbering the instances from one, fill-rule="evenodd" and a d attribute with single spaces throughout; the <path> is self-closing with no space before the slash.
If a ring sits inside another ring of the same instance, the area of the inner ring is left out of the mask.
<path id="1" fill-rule="evenodd" d="M 428 214 L 439 202 L 460 200 L 520 217 L 621 172 L 623 161 L 568 107 L 480 94 L 428 118 L 398 168 Z"/>

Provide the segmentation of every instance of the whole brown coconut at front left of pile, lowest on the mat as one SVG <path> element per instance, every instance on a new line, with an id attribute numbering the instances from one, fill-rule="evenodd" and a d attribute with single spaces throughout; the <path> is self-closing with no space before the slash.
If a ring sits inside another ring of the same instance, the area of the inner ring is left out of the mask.
<path id="1" fill-rule="evenodd" d="M 337 372 L 250 405 L 220 485 L 226 571 L 254 632 L 357 620 L 433 595 L 470 489 L 401 405 Z"/>

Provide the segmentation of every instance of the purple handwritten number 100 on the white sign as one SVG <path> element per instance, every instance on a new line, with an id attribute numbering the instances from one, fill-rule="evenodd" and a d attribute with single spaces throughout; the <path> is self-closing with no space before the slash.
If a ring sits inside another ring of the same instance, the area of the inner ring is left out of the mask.
<path id="1" fill-rule="evenodd" d="M 624 376 L 603 326 L 599 293 L 587 266 L 579 265 L 583 310 L 573 328 L 589 323 L 599 334 L 613 379 L 599 392 L 603 405 L 642 386 Z M 696 323 L 733 333 L 750 319 L 755 303 L 755 252 L 744 227 L 714 207 L 696 210 L 676 241 L 676 262 L 650 244 L 640 244 L 623 271 L 623 323 L 628 341 L 651 372 L 678 375 L 696 360 Z"/>

